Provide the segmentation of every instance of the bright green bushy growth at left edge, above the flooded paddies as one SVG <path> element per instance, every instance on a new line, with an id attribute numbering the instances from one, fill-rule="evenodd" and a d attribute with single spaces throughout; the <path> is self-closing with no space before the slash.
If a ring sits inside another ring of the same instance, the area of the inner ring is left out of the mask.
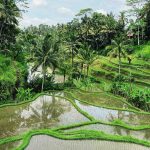
<path id="1" fill-rule="evenodd" d="M 27 67 L 25 64 L 13 61 L 0 55 L 0 101 L 15 100 L 16 88 L 25 83 Z"/>

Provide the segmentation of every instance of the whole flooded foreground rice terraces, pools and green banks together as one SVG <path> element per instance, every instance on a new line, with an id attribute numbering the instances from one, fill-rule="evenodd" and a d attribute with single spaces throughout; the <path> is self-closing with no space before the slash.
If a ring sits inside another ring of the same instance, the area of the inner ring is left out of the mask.
<path id="1" fill-rule="evenodd" d="M 122 146 L 139 150 L 150 147 L 150 113 L 105 92 L 70 89 L 39 94 L 28 102 L 3 105 L 0 118 L 0 149 L 36 150 L 41 146 L 46 150 L 46 141 L 53 148 L 61 143 L 65 149 L 65 140 L 78 149 L 95 143 L 96 150 L 102 141 L 122 142 Z M 119 148 L 118 143 L 112 144 Z"/>

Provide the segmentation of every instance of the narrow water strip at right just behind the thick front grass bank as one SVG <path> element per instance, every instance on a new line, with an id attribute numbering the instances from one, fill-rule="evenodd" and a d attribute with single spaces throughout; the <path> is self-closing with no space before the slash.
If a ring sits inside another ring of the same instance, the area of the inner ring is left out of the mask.
<path id="1" fill-rule="evenodd" d="M 65 132 L 74 131 L 74 130 L 82 130 L 82 129 L 98 130 L 98 131 L 103 131 L 103 132 L 105 132 L 107 134 L 111 134 L 111 135 L 132 136 L 134 138 L 138 138 L 141 140 L 150 141 L 150 129 L 133 131 L 133 130 L 128 130 L 128 129 L 124 129 L 121 127 L 117 127 L 117 126 L 93 124 L 93 125 L 87 125 L 87 126 L 83 126 L 83 127 L 79 127 L 79 128 L 65 130 Z"/>

